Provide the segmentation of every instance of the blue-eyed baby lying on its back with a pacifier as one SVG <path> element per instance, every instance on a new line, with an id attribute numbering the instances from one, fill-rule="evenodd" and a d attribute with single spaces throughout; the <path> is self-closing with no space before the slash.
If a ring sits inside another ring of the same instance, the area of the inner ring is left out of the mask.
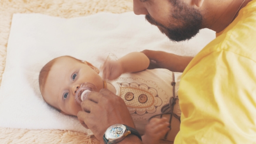
<path id="1" fill-rule="evenodd" d="M 79 101 L 75 100 L 80 87 L 89 84 L 93 87 L 91 90 L 97 92 L 107 88 L 125 101 L 144 144 L 158 144 L 160 139 L 173 142 L 181 115 L 175 81 L 177 88 L 181 73 L 148 70 L 148 65 L 149 59 L 144 53 L 131 52 L 116 61 L 106 60 L 102 78 L 99 69 L 91 63 L 61 56 L 40 71 L 39 87 L 49 105 L 62 114 L 74 116 L 82 111 Z"/>

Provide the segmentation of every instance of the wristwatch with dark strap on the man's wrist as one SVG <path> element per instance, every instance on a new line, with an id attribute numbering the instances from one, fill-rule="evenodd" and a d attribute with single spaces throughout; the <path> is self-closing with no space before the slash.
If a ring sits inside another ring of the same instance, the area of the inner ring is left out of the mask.
<path id="1" fill-rule="evenodd" d="M 122 141 L 128 134 L 135 134 L 141 139 L 141 135 L 134 128 L 125 124 L 114 124 L 105 131 L 103 140 L 105 144 L 115 144 Z"/>

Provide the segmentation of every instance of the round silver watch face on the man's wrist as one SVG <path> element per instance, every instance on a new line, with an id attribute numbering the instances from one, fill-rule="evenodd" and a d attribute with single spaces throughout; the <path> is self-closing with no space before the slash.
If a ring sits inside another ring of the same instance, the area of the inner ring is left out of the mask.
<path id="1" fill-rule="evenodd" d="M 126 132 L 126 127 L 123 124 L 114 124 L 105 132 L 105 137 L 108 140 L 115 140 L 122 137 Z"/>

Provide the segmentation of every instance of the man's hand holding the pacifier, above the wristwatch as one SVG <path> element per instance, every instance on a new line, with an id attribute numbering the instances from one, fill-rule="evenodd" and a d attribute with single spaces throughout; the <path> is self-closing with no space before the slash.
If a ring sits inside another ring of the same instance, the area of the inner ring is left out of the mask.
<path id="1" fill-rule="evenodd" d="M 80 123 L 89 128 L 101 142 L 105 131 L 113 124 L 126 124 L 135 128 L 125 102 L 107 89 L 91 92 L 82 101 L 81 107 L 83 111 L 77 115 Z"/>

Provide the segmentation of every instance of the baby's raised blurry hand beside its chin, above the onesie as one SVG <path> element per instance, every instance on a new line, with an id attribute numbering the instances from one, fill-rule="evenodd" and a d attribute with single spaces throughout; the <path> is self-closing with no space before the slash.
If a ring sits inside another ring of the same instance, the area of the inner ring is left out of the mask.
<path id="1" fill-rule="evenodd" d="M 123 73 L 122 65 L 118 60 L 106 59 L 101 69 L 103 70 L 103 79 L 113 80 L 118 78 Z"/>

